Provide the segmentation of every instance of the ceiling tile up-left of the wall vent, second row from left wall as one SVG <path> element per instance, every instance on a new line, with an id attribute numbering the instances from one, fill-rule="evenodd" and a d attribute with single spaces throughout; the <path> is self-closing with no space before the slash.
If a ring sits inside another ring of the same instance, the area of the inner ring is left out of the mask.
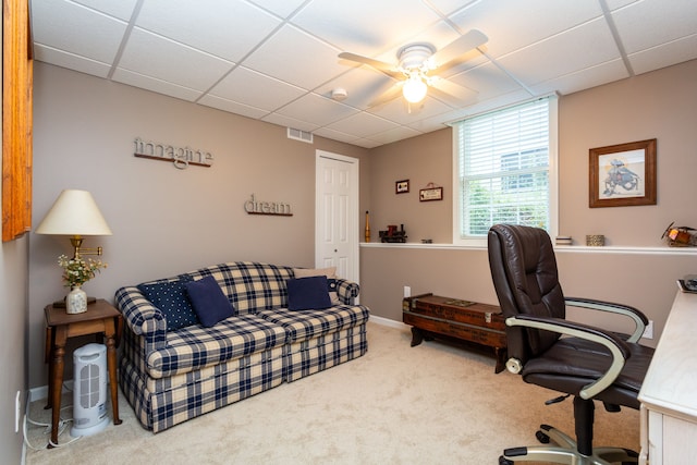
<path id="1" fill-rule="evenodd" d="M 307 90 L 242 66 L 233 70 L 210 89 L 210 95 L 215 97 L 269 111 L 283 107 L 304 94 Z"/>

